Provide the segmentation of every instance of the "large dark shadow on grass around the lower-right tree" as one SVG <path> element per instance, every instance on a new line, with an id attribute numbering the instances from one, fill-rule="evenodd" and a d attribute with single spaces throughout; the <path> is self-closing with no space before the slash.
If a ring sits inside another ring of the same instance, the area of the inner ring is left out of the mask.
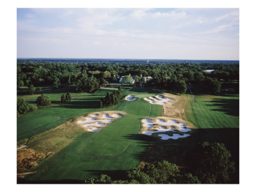
<path id="1" fill-rule="evenodd" d="M 145 137 L 127 136 L 132 140 L 148 141 Z M 170 161 L 182 167 L 188 167 L 191 151 L 197 143 L 224 143 L 232 155 L 231 161 L 235 162 L 236 173 L 231 175 L 232 183 L 239 183 L 239 129 L 193 129 L 191 136 L 178 140 L 159 140 L 156 138 L 141 159 L 145 162 Z"/>

